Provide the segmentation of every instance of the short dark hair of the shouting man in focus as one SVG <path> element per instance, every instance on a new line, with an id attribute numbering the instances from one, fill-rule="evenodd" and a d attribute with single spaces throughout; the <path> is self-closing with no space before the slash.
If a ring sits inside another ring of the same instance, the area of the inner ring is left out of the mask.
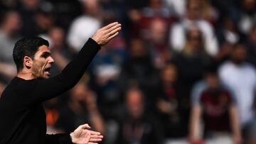
<path id="1" fill-rule="evenodd" d="M 38 37 L 21 38 L 15 43 L 13 57 L 18 72 L 23 69 L 24 57 L 28 56 L 33 59 L 38 48 L 42 45 L 49 46 L 49 43 L 47 40 Z"/>

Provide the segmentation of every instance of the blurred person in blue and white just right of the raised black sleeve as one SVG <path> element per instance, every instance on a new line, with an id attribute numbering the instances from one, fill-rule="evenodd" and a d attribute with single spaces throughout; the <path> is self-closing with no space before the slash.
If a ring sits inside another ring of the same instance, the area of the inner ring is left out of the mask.
<path id="1" fill-rule="evenodd" d="M 89 67 L 90 85 L 99 96 L 97 102 L 107 120 L 117 116 L 116 106 L 121 100 L 118 79 L 126 60 L 124 41 L 117 37 L 100 50 Z"/>

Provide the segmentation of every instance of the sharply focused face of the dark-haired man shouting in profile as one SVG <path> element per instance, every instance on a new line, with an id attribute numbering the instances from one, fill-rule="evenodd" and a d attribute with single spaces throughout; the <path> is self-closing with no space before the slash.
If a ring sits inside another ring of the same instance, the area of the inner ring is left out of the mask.
<path id="1" fill-rule="evenodd" d="M 54 60 L 53 57 L 50 56 L 49 48 L 46 45 L 40 46 L 34 56 L 31 67 L 33 77 L 48 79 L 53 62 Z"/>

